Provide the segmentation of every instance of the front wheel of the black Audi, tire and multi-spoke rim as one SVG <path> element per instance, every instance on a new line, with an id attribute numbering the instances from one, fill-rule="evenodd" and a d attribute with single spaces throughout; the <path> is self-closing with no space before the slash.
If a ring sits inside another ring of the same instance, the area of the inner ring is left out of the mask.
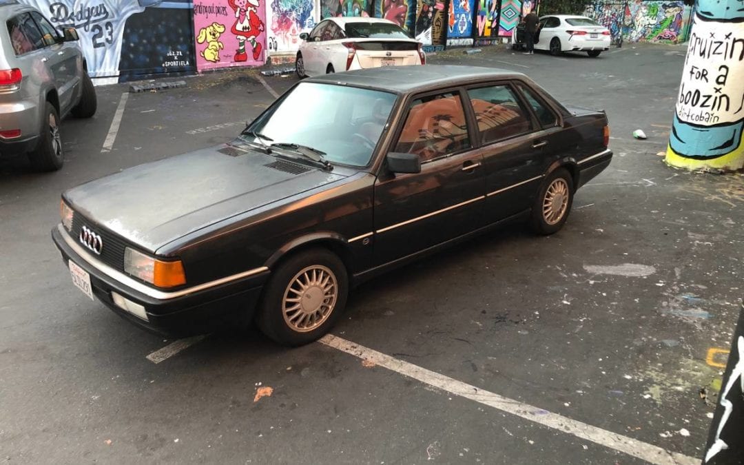
<path id="1" fill-rule="evenodd" d="M 325 248 L 301 251 L 281 263 L 269 280 L 257 309 L 256 324 L 279 344 L 308 344 L 339 320 L 348 288 L 346 267 L 336 254 Z M 295 312 L 292 307 L 296 307 Z"/>

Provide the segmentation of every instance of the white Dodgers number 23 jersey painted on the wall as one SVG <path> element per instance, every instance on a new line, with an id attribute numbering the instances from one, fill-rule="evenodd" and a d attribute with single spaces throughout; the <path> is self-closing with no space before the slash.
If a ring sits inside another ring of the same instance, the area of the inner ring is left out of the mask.
<path id="1" fill-rule="evenodd" d="M 122 38 L 127 20 L 161 0 L 20 0 L 36 7 L 55 28 L 73 27 L 91 77 L 119 76 Z M 167 22 L 167 27 L 175 23 Z M 158 53 L 144 50 L 144 53 Z"/>

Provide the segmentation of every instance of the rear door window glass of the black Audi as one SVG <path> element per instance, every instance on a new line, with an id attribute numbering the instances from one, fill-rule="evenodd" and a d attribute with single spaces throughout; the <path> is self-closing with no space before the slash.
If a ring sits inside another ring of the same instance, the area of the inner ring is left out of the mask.
<path id="1" fill-rule="evenodd" d="M 530 113 L 519 102 L 511 86 L 469 89 L 468 97 L 478 121 L 481 144 L 524 134 L 533 130 Z"/>

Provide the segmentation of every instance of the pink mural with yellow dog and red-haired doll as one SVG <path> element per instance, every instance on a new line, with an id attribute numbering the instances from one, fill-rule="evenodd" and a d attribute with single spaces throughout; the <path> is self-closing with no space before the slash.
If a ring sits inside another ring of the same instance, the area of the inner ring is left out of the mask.
<path id="1" fill-rule="evenodd" d="M 265 0 L 196 1 L 193 41 L 199 71 L 266 61 Z"/>

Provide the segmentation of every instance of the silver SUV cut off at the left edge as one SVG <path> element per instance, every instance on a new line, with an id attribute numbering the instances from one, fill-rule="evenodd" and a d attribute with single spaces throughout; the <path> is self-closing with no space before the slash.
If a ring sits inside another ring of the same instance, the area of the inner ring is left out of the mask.
<path id="1" fill-rule="evenodd" d="M 61 118 L 90 118 L 97 106 L 77 39 L 39 10 L 0 0 L 0 156 L 28 153 L 36 170 L 62 167 Z"/>

